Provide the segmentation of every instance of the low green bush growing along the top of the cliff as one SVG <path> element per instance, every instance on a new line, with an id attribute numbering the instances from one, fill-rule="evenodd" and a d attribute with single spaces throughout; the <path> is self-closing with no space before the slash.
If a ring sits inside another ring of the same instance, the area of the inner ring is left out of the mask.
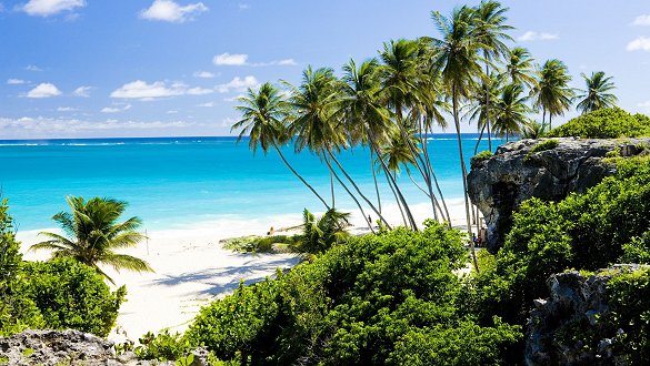
<path id="1" fill-rule="evenodd" d="M 551 130 L 549 138 L 617 139 L 650 135 L 650 118 L 619 108 L 582 114 Z"/>

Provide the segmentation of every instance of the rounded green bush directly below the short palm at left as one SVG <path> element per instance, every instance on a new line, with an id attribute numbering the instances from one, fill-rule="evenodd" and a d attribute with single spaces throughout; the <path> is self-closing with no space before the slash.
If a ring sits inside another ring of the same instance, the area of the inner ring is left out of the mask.
<path id="1" fill-rule="evenodd" d="M 22 291 L 48 328 L 73 328 L 106 337 L 127 294 L 124 286 L 111 293 L 91 267 L 71 258 L 26 262 Z"/>

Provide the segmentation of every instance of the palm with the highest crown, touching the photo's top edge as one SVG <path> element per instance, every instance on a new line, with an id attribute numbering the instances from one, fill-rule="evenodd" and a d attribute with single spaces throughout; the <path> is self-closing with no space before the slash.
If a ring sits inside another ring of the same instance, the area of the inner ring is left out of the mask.
<path id="1" fill-rule="evenodd" d="M 504 40 L 512 41 L 512 38 L 506 33 L 506 31 L 513 29 L 513 27 L 504 24 L 508 18 L 503 14 L 508 10 L 509 8 L 502 8 L 499 2 L 491 0 L 482 0 L 476 9 L 476 33 L 480 39 L 480 42 L 483 44 L 481 51 L 486 64 L 486 75 L 490 74 L 490 64 L 493 59 L 510 54 L 510 50 L 506 43 L 503 43 Z M 493 79 L 489 78 L 483 82 L 486 103 L 484 126 L 488 129 L 488 148 L 490 151 L 492 151 L 492 135 L 490 132 L 490 90 L 492 88 L 492 81 Z"/>

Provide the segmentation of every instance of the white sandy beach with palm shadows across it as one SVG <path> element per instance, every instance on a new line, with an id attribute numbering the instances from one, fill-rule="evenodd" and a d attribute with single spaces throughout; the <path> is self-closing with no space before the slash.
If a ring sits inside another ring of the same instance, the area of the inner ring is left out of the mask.
<path id="1" fill-rule="evenodd" d="M 462 200 L 449 201 L 452 224 L 464 223 Z M 419 222 L 431 216 L 428 203 L 412 205 Z M 387 218 L 399 225 L 401 216 L 396 206 L 384 207 Z M 373 220 L 374 215 L 372 215 Z M 360 215 L 352 217 L 356 232 L 363 231 Z M 128 254 L 148 261 L 156 273 L 116 273 L 106 268 L 118 285 L 126 285 L 127 302 L 120 308 L 117 327 L 110 339 L 137 342 L 147 332 L 184 331 L 201 306 L 231 293 L 240 281 L 253 283 L 272 276 L 277 268 L 288 268 L 300 262 L 291 254 L 238 254 L 223 250 L 219 241 L 242 235 L 264 235 L 270 226 L 276 228 L 301 223 L 301 215 L 280 215 L 264 220 L 220 220 L 202 223 L 187 230 L 148 232 L 149 240 Z M 46 231 L 54 231 L 46 228 Z M 47 260 L 46 252 L 28 252 L 38 243 L 40 231 L 19 232 L 24 260 Z"/>

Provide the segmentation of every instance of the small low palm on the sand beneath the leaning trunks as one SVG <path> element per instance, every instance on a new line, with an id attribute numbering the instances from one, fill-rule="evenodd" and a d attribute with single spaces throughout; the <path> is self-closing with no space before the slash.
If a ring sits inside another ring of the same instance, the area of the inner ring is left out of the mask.
<path id="1" fill-rule="evenodd" d="M 302 244 L 301 251 L 307 253 L 322 253 L 336 244 L 341 244 L 350 233 L 350 214 L 334 209 L 328 210 L 320 218 L 304 209 L 302 213 Z"/>

